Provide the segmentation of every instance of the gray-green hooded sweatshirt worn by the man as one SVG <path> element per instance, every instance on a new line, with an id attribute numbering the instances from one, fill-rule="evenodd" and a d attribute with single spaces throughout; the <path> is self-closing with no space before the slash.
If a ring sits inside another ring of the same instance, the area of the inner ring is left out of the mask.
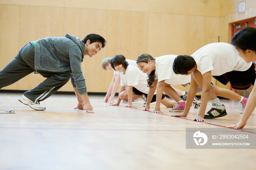
<path id="1" fill-rule="evenodd" d="M 65 37 L 46 37 L 33 41 L 35 45 L 35 70 L 48 72 L 71 72 L 73 88 L 80 95 L 87 93 L 81 69 L 85 45 L 74 35 Z"/>

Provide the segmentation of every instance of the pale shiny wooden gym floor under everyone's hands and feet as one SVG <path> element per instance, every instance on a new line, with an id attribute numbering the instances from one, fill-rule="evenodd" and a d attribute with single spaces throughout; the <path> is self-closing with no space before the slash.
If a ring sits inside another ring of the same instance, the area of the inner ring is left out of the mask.
<path id="1" fill-rule="evenodd" d="M 89 96 L 95 113 L 85 113 L 73 109 L 75 95 L 49 97 L 41 102 L 45 111 L 20 103 L 21 95 L 0 93 L 1 112 L 16 108 L 0 113 L 0 170 L 256 169 L 255 149 L 186 149 L 186 128 L 237 123 L 237 101 L 221 99 L 228 115 L 200 123 L 192 121 L 199 109 L 170 117 L 164 106 L 163 114 L 142 111 L 142 99 L 123 108 Z M 256 128 L 255 111 L 243 130 L 249 128 Z"/>

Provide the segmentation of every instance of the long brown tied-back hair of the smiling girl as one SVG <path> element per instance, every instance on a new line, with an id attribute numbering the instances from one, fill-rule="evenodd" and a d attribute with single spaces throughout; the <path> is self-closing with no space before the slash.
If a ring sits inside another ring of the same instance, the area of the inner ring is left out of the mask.
<path id="1" fill-rule="evenodd" d="M 140 62 L 144 62 L 144 63 L 148 63 L 148 59 L 151 59 L 151 61 L 154 61 L 155 62 L 155 59 L 151 56 L 151 55 L 149 55 L 149 54 L 146 54 L 146 53 L 144 53 L 144 54 L 141 54 L 139 57 L 138 57 L 138 59 L 137 59 L 137 61 L 136 61 L 136 63 L 138 64 L 138 63 L 140 63 Z M 154 86 L 152 86 L 153 85 L 153 83 L 155 82 L 155 70 L 153 70 L 150 74 L 147 74 L 147 86 L 150 88 L 150 89 L 152 89 Z"/>

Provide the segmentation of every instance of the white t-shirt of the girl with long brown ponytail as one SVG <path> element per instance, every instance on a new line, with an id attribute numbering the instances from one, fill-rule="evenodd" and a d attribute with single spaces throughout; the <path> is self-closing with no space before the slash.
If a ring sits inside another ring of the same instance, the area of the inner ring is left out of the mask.
<path id="1" fill-rule="evenodd" d="M 177 55 L 163 55 L 155 58 L 155 80 L 165 80 L 170 85 L 187 84 L 190 82 L 190 75 L 185 76 L 173 72 L 173 61 Z"/>

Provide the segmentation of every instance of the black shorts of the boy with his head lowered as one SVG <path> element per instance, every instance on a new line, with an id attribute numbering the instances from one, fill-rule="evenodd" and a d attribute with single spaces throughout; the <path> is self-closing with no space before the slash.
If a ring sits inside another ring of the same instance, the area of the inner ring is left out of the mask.
<path id="1" fill-rule="evenodd" d="M 246 71 L 232 71 L 222 74 L 221 76 L 212 77 L 224 85 L 230 82 L 233 89 L 246 90 L 251 85 L 254 85 L 256 78 L 255 66 L 252 63 L 252 66 Z"/>

